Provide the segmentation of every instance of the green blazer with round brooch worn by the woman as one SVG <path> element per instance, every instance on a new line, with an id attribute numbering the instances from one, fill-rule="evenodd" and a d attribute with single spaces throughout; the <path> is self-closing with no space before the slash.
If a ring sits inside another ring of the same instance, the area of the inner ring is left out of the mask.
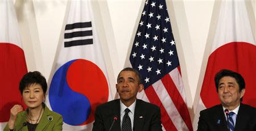
<path id="1" fill-rule="evenodd" d="M 18 113 L 17 119 L 14 124 L 14 131 L 28 131 L 27 125 L 23 123 L 27 122 L 27 110 Z M 41 117 L 38 126 L 36 126 L 36 131 L 41 130 L 62 130 L 63 118 L 56 112 L 50 111 L 49 108 L 44 105 L 44 113 Z M 9 131 L 9 125 L 5 126 L 3 131 Z"/>

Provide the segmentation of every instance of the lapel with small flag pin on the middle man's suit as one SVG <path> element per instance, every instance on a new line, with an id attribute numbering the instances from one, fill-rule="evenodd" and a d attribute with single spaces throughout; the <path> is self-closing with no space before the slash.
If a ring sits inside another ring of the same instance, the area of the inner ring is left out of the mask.
<path id="1" fill-rule="evenodd" d="M 133 121 L 133 130 L 138 131 L 143 129 L 144 125 L 144 113 L 141 108 L 141 101 L 137 100 L 134 110 L 134 121 Z"/>

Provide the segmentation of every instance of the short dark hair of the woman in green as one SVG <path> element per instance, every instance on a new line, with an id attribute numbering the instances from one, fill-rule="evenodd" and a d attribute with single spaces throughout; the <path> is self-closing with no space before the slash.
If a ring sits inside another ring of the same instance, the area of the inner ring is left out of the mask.
<path id="1" fill-rule="evenodd" d="M 47 91 L 46 78 L 44 78 L 44 76 L 39 71 L 28 72 L 22 77 L 22 79 L 19 82 L 20 94 L 22 94 L 23 90 L 26 87 L 34 83 L 40 84 L 43 88 L 44 95 L 46 95 L 46 91 Z"/>

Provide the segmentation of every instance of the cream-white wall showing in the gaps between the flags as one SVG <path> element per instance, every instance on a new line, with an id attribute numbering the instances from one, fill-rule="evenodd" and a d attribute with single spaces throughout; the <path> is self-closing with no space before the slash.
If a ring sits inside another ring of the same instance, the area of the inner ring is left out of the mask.
<path id="1" fill-rule="evenodd" d="M 204 78 L 220 1 L 167 1 L 191 119 Z M 255 36 L 255 0 L 247 1 Z M 69 1 L 15 1 L 28 71 L 51 73 Z M 144 1 L 92 1 L 96 28 L 115 94 L 115 79 L 126 65 Z"/>

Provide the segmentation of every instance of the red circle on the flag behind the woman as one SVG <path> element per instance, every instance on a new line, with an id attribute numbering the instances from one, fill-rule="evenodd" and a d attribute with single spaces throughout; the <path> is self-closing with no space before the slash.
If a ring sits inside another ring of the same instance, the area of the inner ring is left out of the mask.
<path id="1" fill-rule="evenodd" d="M 19 81 L 27 73 L 27 66 L 23 50 L 15 44 L 0 43 L 0 53 L 0 122 L 7 122 L 13 105 L 26 108 L 20 95 Z"/>

